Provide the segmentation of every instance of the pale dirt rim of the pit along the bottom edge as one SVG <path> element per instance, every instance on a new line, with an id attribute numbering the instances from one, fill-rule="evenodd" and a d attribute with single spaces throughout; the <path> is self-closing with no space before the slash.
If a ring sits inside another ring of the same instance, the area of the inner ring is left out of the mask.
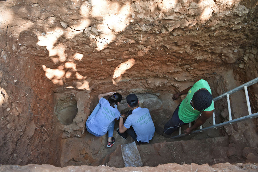
<path id="1" fill-rule="evenodd" d="M 255 172 L 257 171 L 257 163 L 247 163 L 242 164 L 238 163 L 236 165 L 231 165 L 230 163 L 218 163 L 212 166 L 209 166 L 208 164 L 203 165 L 197 165 L 192 163 L 191 165 L 179 165 L 179 164 L 165 164 L 165 165 L 159 165 L 158 167 L 126 167 L 126 168 L 114 168 L 114 167 L 105 167 L 104 165 L 99 167 L 90 167 L 90 166 L 69 166 L 69 167 L 54 167 L 52 165 L 36 165 L 36 164 L 30 164 L 26 166 L 19 166 L 19 165 L 2 165 L 0 166 L 0 170 L 6 171 L 6 172 L 25 172 L 25 171 L 57 171 L 57 172 L 68 172 L 68 171 L 78 171 L 78 172 L 84 172 L 84 171 L 182 171 L 182 172 L 188 172 L 188 171 L 206 171 L 206 172 L 214 172 L 214 171 L 223 171 L 223 172 Z"/>

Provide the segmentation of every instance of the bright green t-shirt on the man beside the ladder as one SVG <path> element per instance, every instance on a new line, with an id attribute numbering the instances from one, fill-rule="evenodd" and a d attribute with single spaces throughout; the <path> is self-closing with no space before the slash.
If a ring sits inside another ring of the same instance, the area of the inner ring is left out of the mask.
<path id="1" fill-rule="evenodd" d="M 195 84 L 193 84 L 191 89 L 189 89 L 187 96 L 181 102 L 179 106 L 178 116 L 179 116 L 179 119 L 182 120 L 184 123 L 192 122 L 196 120 L 196 118 L 199 116 L 200 112 L 198 110 L 193 110 L 192 106 L 190 105 L 190 101 L 193 98 L 194 93 L 202 88 L 207 89 L 211 93 L 208 82 L 201 79 L 197 81 Z M 214 110 L 214 101 L 212 101 L 212 104 L 210 105 L 210 107 L 208 107 L 204 111 L 212 111 L 212 110 Z"/>

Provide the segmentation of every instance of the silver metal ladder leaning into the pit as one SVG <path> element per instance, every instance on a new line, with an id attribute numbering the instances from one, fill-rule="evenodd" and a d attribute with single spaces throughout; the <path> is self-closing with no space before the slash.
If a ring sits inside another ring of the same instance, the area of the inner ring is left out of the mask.
<path id="1" fill-rule="evenodd" d="M 243 84 L 243 85 L 240 85 L 240 86 L 238 86 L 238 87 L 236 87 L 236 88 L 234 88 L 234 89 L 232 89 L 232 90 L 230 90 L 230 91 L 228 91 L 224 94 L 221 94 L 218 97 L 215 97 L 214 99 L 212 99 L 215 102 L 219 99 L 222 99 L 223 97 L 227 97 L 229 121 L 222 122 L 220 124 L 216 124 L 215 123 L 215 110 L 214 110 L 213 115 L 212 115 L 213 125 L 209 126 L 209 127 L 206 127 L 206 128 L 202 128 L 202 126 L 200 126 L 199 130 L 195 130 L 195 131 L 191 132 L 191 134 L 207 131 L 207 130 L 214 129 L 214 128 L 220 128 L 220 127 L 223 127 L 223 126 L 227 126 L 227 125 L 230 125 L 230 124 L 234 124 L 234 123 L 245 121 L 245 120 L 252 119 L 252 118 L 257 118 L 258 117 L 258 112 L 254 113 L 254 114 L 252 114 L 252 112 L 251 112 L 251 106 L 250 106 L 249 96 L 248 96 L 248 92 L 247 92 L 247 87 L 249 87 L 249 86 L 251 86 L 251 85 L 253 85 L 257 82 L 258 82 L 258 77 L 249 81 L 249 82 L 247 82 L 247 83 L 245 83 L 245 84 Z M 229 95 L 232 94 L 232 93 L 235 93 L 235 92 L 237 92 L 241 89 L 245 89 L 245 97 L 246 97 L 246 102 L 247 102 L 248 115 L 232 120 Z M 200 114 L 200 116 L 201 116 L 201 114 Z M 191 127 L 191 123 L 189 123 L 189 127 Z M 190 135 L 190 134 L 188 134 L 188 135 Z M 180 127 L 179 128 L 179 135 L 173 136 L 171 138 L 174 139 L 174 138 L 184 137 L 184 136 L 188 136 L 188 135 L 181 134 L 181 127 Z"/>

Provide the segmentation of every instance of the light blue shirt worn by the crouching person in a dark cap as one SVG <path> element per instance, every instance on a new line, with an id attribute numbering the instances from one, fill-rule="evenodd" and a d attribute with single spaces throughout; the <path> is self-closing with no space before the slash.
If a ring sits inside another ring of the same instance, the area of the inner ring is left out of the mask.
<path id="1" fill-rule="evenodd" d="M 124 123 L 125 128 L 132 126 L 136 133 L 137 141 L 149 142 L 155 132 L 155 127 L 147 108 L 137 107 L 132 111 Z"/>

